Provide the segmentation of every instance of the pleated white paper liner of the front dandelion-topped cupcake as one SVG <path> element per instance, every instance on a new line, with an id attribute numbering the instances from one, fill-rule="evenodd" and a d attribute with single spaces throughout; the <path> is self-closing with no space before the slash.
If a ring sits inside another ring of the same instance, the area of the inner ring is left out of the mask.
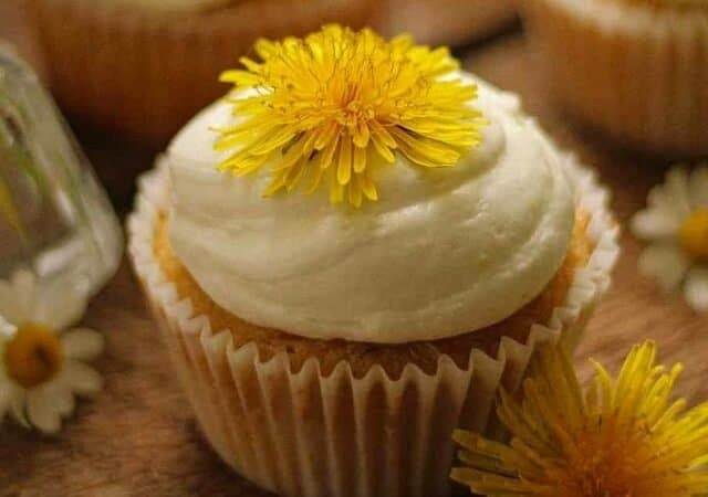
<path id="1" fill-rule="evenodd" d="M 295 371 L 285 352 L 261 360 L 258 345 L 235 348 L 228 330 L 212 330 L 189 298 L 165 279 L 153 250 L 157 219 L 168 202 L 164 165 L 139 182 L 128 221 L 136 274 L 160 324 L 176 370 L 206 437 L 221 458 L 257 485 L 285 496 L 444 496 L 449 493 L 451 432 L 493 429 L 501 387 L 520 384 L 537 343 L 580 339 L 610 285 L 618 254 L 607 192 L 592 172 L 565 161 L 591 214 L 594 244 L 566 302 L 525 343 L 502 338 L 490 357 L 473 349 L 466 368 L 441 356 L 426 373 L 408 364 L 400 378 L 375 366 L 363 378 L 346 361 L 323 374 L 316 359 Z"/>

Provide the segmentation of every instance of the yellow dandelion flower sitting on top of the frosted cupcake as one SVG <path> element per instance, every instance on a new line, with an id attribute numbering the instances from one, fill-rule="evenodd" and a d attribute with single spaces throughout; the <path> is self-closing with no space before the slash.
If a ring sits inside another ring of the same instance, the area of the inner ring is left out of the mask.
<path id="1" fill-rule="evenodd" d="M 221 75 L 236 85 L 228 101 L 240 119 L 217 129 L 216 148 L 235 149 L 222 171 L 272 165 L 266 195 L 325 182 L 332 203 L 360 207 L 377 200 L 376 170 L 396 152 L 449 167 L 480 141 L 477 87 L 455 77 L 447 49 L 326 25 L 304 40 L 260 40 L 256 53 L 260 62 L 242 57 L 244 70 Z"/>

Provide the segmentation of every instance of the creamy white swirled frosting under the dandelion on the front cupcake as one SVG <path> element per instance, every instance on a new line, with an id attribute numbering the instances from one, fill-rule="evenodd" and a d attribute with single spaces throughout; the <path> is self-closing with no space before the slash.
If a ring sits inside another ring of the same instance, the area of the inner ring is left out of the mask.
<path id="1" fill-rule="evenodd" d="M 209 127 L 232 117 L 214 104 L 167 155 L 173 250 L 221 307 L 303 337 L 430 340 L 509 317 L 560 267 L 573 193 L 518 98 L 477 83 L 482 146 L 454 168 L 398 158 L 360 210 L 331 205 L 324 188 L 263 199 L 269 167 L 218 172 Z"/>

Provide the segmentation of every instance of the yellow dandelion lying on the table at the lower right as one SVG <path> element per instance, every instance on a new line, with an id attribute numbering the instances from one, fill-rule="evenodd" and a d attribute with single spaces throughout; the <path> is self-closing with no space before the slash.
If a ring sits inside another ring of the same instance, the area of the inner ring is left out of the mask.
<path id="1" fill-rule="evenodd" d="M 635 346 L 613 379 L 600 363 L 581 390 L 570 359 L 542 348 L 519 403 L 502 393 L 502 444 L 458 431 L 452 479 L 490 497 L 697 497 L 708 495 L 708 403 L 671 401 L 683 367 Z"/>

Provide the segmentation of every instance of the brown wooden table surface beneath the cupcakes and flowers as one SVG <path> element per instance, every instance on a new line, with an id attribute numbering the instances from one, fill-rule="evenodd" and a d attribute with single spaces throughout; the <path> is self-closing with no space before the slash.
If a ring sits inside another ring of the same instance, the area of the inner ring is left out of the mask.
<path id="1" fill-rule="evenodd" d="M 3 3 L 0 38 L 4 33 L 22 39 L 22 29 Z M 520 93 L 527 109 L 562 146 L 598 170 L 613 189 L 613 207 L 623 224 L 644 205 L 668 162 L 613 148 L 565 118 L 553 105 L 522 33 L 468 47 L 460 56 L 467 68 Z M 149 167 L 155 150 L 116 142 L 86 127 L 77 133 L 125 214 L 134 176 Z M 694 314 L 678 296 L 660 295 L 637 275 L 639 245 L 626 231 L 622 245 L 614 287 L 577 353 L 583 376 L 590 371 L 590 356 L 615 368 L 632 343 L 654 338 L 664 361 L 686 364 L 678 392 L 691 402 L 708 398 L 708 317 Z M 229 472 L 201 440 L 127 263 L 93 300 L 84 324 L 107 338 L 106 353 L 97 363 L 105 390 L 95 401 L 81 402 L 56 437 L 9 423 L 0 429 L 0 496 L 267 495 Z"/>

